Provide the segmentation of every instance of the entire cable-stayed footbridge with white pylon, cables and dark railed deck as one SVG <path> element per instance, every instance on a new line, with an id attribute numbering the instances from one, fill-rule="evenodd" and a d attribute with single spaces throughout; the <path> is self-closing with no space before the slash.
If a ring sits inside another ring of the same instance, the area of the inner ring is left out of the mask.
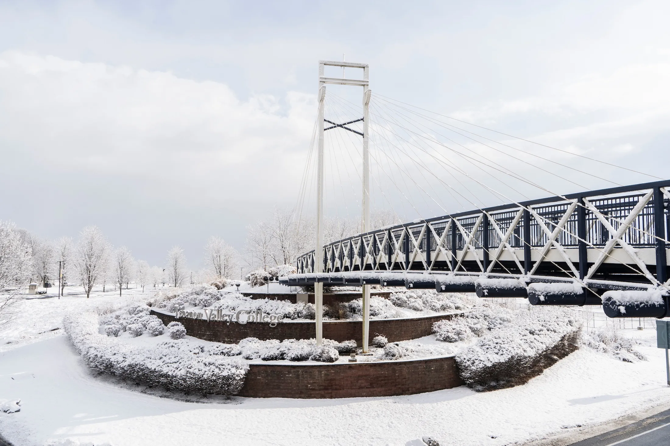
<path id="1" fill-rule="evenodd" d="M 357 70 L 362 79 L 347 76 Z M 364 351 L 371 285 L 670 316 L 670 180 L 653 175 L 659 166 L 643 156 L 616 164 L 614 151 L 590 142 L 551 132 L 530 140 L 373 95 L 367 64 L 320 61 L 318 79 L 295 207 L 300 227 L 314 193 L 315 249 L 280 279 L 314 286 L 318 340 L 324 284 L 361 287 Z M 352 86 L 362 87 L 360 106 L 334 93 Z M 373 221 L 371 207 L 395 217 Z M 360 225 L 345 230 L 340 213 L 354 208 Z M 400 224 L 409 214 L 419 218 Z"/>

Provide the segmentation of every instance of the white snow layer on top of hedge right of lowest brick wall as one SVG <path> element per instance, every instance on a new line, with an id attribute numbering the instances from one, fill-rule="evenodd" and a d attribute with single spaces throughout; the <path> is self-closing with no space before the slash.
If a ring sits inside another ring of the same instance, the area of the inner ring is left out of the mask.
<path id="1" fill-rule="evenodd" d="M 519 310 L 508 323 L 494 327 L 462 350 L 456 360 L 462 370 L 472 372 L 513 357 L 536 356 L 579 328 L 578 320 L 562 308 Z"/>

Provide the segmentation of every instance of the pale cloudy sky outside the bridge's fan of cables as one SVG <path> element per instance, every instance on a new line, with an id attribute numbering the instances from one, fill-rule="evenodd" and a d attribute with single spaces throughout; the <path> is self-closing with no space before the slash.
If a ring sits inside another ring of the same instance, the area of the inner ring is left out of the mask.
<path id="1" fill-rule="evenodd" d="M 53 238 L 98 225 L 155 264 L 182 245 L 198 267 L 210 235 L 242 249 L 295 204 L 317 61 L 343 53 L 375 93 L 669 178 L 669 9 L 3 1 L 0 219 Z M 651 180 L 626 175 L 600 176 Z"/>

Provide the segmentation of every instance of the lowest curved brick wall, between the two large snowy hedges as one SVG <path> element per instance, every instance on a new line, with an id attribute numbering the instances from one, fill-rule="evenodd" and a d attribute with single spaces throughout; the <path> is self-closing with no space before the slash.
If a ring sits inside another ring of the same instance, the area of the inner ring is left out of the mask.
<path id="1" fill-rule="evenodd" d="M 453 356 L 354 364 L 249 364 L 240 397 L 391 397 L 462 386 Z"/>

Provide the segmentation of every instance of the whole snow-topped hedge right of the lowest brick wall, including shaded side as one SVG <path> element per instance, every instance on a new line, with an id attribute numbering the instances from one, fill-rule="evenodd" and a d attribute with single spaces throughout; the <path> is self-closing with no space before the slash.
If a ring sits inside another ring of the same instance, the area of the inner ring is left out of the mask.
<path id="1" fill-rule="evenodd" d="M 502 310 L 502 309 L 500 309 Z M 456 356 L 461 378 L 476 391 L 525 384 L 579 348 L 581 326 L 561 308 L 519 310 Z"/>

